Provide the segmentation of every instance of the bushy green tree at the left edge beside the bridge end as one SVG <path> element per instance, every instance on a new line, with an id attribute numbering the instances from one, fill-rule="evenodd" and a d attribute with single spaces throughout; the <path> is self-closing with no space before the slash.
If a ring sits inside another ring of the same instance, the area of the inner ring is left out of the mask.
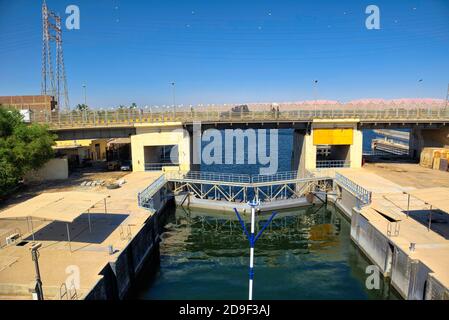
<path id="1" fill-rule="evenodd" d="M 20 112 L 0 108 L 0 196 L 7 195 L 25 173 L 54 156 L 56 136 L 39 124 L 28 125 Z"/>

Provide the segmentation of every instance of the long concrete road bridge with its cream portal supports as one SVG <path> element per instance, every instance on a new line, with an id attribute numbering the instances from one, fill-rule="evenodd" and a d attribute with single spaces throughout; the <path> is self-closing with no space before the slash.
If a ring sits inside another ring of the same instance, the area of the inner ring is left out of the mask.
<path id="1" fill-rule="evenodd" d="M 41 112 L 32 122 L 45 123 L 60 140 L 131 136 L 134 171 L 191 170 L 193 127 L 217 129 L 294 129 L 292 170 L 317 167 L 358 168 L 362 162 L 364 129 L 410 129 L 410 152 L 419 157 L 424 147 L 449 145 L 449 108 L 440 105 L 258 105 L 250 111 L 223 108 L 172 108 Z M 242 138 L 244 139 L 244 137 Z M 164 146 L 176 147 L 178 162 L 156 159 Z M 320 148 L 329 148 L 329 159 L 320 160 Z M 164 164 L 164 162 L 166 162 Z"/>

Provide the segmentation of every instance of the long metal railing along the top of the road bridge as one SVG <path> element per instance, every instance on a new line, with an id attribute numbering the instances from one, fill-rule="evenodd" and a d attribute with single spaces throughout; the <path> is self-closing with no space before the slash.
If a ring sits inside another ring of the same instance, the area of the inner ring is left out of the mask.
<path id="1" fill-rule="evenodd" d="M 258 108 L 268 109 L 265 105 Z M 88 111 L 53 111 L 34 112 L 31 122 L 46 123 L 51 128 L 70 128 L 84 126 L 117 126 L 134 123 L 177 122 L 238 122 L 238 121 L 311 121 L 313 119 L 358 119 L 361 121 L 445 121 L 449 119 L 449 108 L 441 106 L 418 105 L 404 107 L 397 105 L 292 105 L 286 104 L 290 110 L 273 112 L 269 110 L 253 110 L 249 112 L 217 111 L 208 108 L 197 108 L 186 111 L 156 111 L 148 109 L 115 109 Z M 295 108 L 295 109 L 293 109 Z M 282 110 L 282 105 L 280 107 Z"/>

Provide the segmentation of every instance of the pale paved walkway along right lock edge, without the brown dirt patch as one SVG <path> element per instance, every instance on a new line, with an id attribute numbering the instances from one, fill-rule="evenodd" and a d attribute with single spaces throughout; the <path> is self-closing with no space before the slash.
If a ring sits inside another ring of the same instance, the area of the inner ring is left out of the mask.
<path id="1" fill-rule="evenodd" d="M 409 168 L 413 165 L 405 166 Z M 425 168 L 418 170 L 428 170 L 429 176 L 431 171 L 434 171 Z M 410 258 L 418 259 L 427 265 L 433 271 L 434 277 L 449 288 L 449 214 L 433 211 L 433 224 L 428 230 L 428 204 L 411 197 L 410 216 L 407 216 L 408 195 L 404 194 L 404 191 L 414 189 L 414 186 L 410 182 L 404 184 L 403 177 L 396 180 L 393 175 L 392 180 L 388 180 L 364 168 L 345 169 L 339 172 L 373 192 L 372 205 L 363 208 L 362 215 L 389 241 L 407 252 Z M 447 175 L 449 181 L 449 173 L 442 173 Z M 433 186 L 440 185 L 434 181 Z M 383 208 L 399 217 L 401 221 L 397 236 L 388 235 L 389 220 L 374 208 Z M 411 243 L 416 244 L 415 251 L 410 250 Z"/>

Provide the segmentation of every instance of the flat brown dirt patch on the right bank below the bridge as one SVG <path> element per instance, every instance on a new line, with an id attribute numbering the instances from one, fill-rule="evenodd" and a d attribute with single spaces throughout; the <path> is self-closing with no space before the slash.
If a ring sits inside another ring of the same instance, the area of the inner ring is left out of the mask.
<path id="1" fill-rule="evenodd" d="M 449 172 L 423 168 L 415 163 L 366 163 L 363 168 L 404 187 L 449 187 Z"/>

